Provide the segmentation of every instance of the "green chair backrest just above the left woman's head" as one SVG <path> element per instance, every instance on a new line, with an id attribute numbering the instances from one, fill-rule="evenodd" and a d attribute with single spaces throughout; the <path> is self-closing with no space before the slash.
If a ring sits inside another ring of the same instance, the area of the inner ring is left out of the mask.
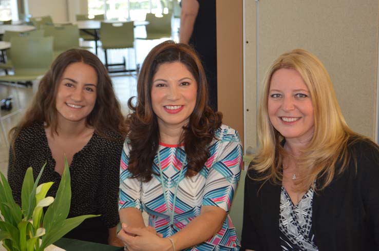
<path id="1" fill-rule="evenodd" d="M 45 36 L 54 37 L 54 51 L 63 52 L 79 47 L 79 29 L 77 25 L 45 26 Z"/>

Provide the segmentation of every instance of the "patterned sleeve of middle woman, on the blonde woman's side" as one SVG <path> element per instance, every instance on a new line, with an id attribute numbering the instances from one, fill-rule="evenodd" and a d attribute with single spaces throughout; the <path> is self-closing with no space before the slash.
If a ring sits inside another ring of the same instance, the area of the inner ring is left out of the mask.
<path id="1" fill-rule="evenodd" d="M 242 145 L 236 130 L 222 126 L 216 133 L 220 139 L 210 147 L 206 162 L 206 178 L 202 205 L 218 206 L 229 212 L 242 166 Z"/>

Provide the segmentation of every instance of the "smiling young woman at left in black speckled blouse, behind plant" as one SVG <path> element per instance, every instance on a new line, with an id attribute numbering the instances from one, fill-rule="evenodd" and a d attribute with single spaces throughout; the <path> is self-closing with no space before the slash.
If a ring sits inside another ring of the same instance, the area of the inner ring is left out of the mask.
<path id="1" fill-rule="evenodd" d="M 26 169 L 40 183 L 53 181 L 55 197 L 67 161 L 71 176 L 69 217 L 85 220 L 65 237 L 123 246 L 116 237 L 119 164 L 126 128 L 109 75 L 98 57 L 71 49 L 45 74 L 24 118 L 10 132 L 8 181 L 21 204 Z"/>

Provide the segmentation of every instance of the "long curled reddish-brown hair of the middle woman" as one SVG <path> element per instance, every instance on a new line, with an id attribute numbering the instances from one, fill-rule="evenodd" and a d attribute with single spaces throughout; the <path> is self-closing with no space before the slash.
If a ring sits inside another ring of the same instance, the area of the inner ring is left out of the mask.
<path id="1" fill-rule="evenodd" d="M 151 105 L 151 86 L 158 67 L 164 63 L 180 62 L 194 76 L 197 96 L 194 111 L 189 122 L 183 127 L 181 142 L 187 155 L 186 177 L 196 175 L 210 157 L 208 149 L 215 130 L 221 126 L 222 114 L 208 106 L 206 76 L 196 52 L 188 45 L 173 41 L 163 42 L 154 47 L 143 62 L 137 82 L 137 103 L 132 97 L 128 101 L 131 113 L 126 124 L 130 156 L 128 170 L 132 176 L 147 182 L 152 178 L 153 160 L 159 147 L 159 127 L 157 116 Z"/>

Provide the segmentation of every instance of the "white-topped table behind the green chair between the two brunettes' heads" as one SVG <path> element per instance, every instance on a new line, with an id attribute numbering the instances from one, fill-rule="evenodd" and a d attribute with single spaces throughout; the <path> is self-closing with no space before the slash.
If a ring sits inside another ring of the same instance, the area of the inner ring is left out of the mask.
<path id="1" fill-rule="evenodd" d="M 121 21 L 98 21 L 98 20 L 85 20 L 85 21 L 77 21 L 74 22 L 74 25 L 78 25 L 78 29 L 83 32 L 93 36 L 93 40 L 95 42 L 95 54 L 98 54 L 98 41 L 100 40 L 99 30 L 101 26 L 101 22 L 105 23 L 125 23 Z M 133 21 L 134 27 L 141 25 L 148 25 L 148 21 Z"/>

